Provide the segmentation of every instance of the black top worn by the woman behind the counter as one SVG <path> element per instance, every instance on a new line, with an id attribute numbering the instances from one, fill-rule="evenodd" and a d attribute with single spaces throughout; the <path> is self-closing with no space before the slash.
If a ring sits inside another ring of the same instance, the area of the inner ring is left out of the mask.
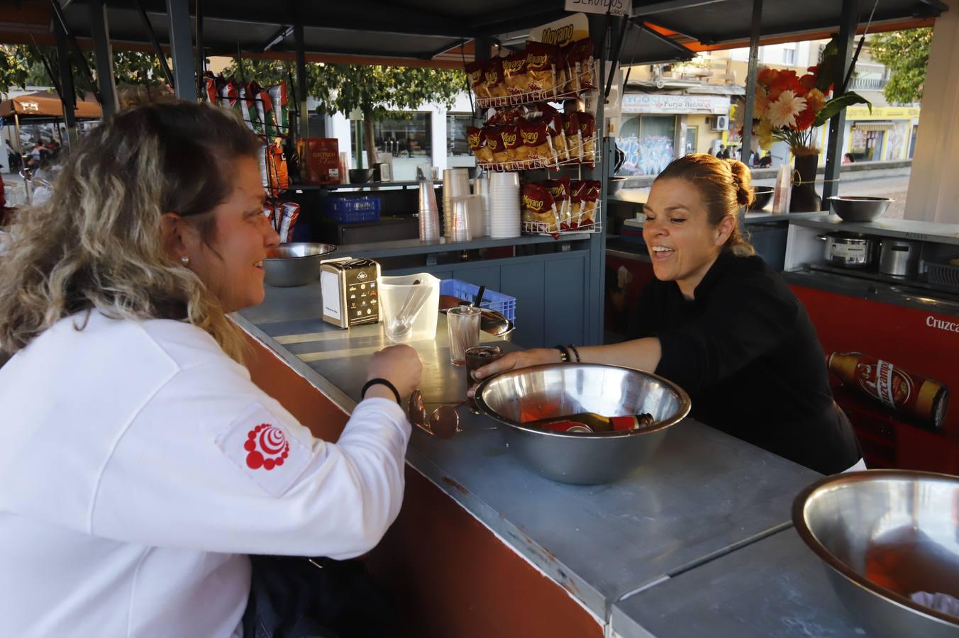
<path id="1" fill-rule="evenodd" d="M 862 456 L 806 308 L 759 257 L 721 254 L 692 300 L 653 280 L 632 334 L 659 338 L 656 374 L 690 393 L 697 421 L 824 474 Z"/>

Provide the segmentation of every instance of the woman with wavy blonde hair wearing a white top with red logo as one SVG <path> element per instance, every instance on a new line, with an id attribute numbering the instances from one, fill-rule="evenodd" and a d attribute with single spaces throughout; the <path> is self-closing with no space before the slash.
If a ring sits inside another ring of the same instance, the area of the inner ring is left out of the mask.
<path id="1" fill-rule="evenodd" d="M 414 351 L 374 355 L 337 444 L 242 364 L 226 313 L 263 300 L 278 241 L 259 150 L 226 109 L 137 107 L 18 216 L 0 263 L 15 353 L 0 369 L 0 635 L 242 636 L 247 555 L 356 557 L 399 512 Z"/>

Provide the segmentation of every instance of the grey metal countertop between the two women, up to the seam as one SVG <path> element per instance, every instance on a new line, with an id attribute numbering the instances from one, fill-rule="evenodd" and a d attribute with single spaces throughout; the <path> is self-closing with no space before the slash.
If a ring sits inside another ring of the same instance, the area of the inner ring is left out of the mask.
<path id="1" fill-rule="evenodd" d="M 316 318 L 319 308 L 318 285 L 268 286 L 264 304 L 242 311 L 238 321 L 349 411 L 359 399 L 367 358 L 387 341 L 379 326 L 339 330 L 325 324 Z M 465 372 L 449 363 L 444 317 L 435 340 L 410 345 L 424 362 L 425 399 L 463 399 Z M 463 432 L 452 441 L 414 431 L 409 465 L 600 623 L 630 593 L 787 528 L 794 494 L 818 476 L 687 420 L 674 426 L 650 464 L 626 479 L 563 485 L 521 465 L 496 422 L 465 406 L 457 411 Z"/>

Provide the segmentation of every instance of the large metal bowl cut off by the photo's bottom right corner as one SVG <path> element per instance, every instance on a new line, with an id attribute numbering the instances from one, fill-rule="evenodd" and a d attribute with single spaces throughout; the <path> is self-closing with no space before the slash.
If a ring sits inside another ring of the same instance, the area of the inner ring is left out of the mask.
<path id="1" fill-rule="evenodd" d="M 796 497 L 792 520 L 870 636 L 959 636 L 959 617 L 910 599 L 917 591 L 959 598 L 959 477 L 837 474 Z"/>

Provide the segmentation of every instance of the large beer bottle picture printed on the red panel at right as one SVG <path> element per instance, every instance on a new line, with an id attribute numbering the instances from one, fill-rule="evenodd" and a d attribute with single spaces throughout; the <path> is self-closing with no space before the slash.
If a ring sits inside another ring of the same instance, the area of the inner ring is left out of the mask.
<path id="1" fill-rule="evenodd" d="M 943 429 L 949 389 L 942 381 L 903 370 L 863 353 L 830 353 L 830 372 L 842 382 L 904 417 Z"/>

